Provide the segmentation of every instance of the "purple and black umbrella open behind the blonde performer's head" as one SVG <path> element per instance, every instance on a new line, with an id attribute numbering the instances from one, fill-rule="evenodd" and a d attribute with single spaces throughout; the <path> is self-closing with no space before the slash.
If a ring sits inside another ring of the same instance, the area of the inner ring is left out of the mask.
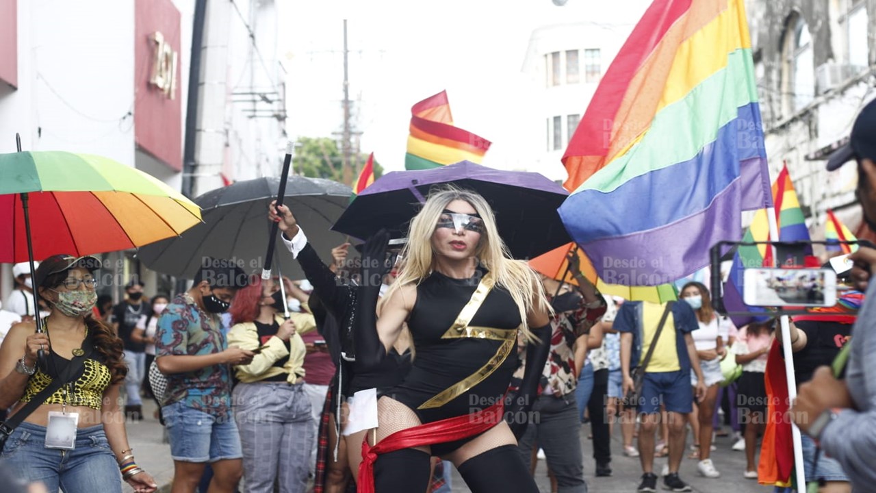
<path id="1" fill-rule="evenodd" d="M 393 238 L 405 236 L 429 189 L 442 184 L 484 196 L 514 258 L 535 257 L 571 241 L 556 212 L 569 196 L 562 186 L 539 173 L 503 171 L 470 161 L 381 176 L 353 200 L 332 229 L 360 239 L 383 227 Z"/>

